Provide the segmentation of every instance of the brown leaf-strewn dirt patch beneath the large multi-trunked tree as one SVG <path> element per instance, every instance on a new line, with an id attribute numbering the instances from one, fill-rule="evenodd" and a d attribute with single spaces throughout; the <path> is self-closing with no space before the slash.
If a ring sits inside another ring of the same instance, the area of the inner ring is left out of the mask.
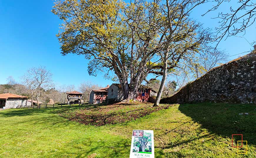
<path id="1" fill-rule="evenodd" d="M 162 109 L 168 109 L 170 104 L 152 107 L 151 103 L 116 103 L 107 106 L 90 106 L 80 109 L 66 109 L 59 115 L 72 121 L 86 125 L 102 126 L 106 124 L 122 123 L 151 114 Z"/>

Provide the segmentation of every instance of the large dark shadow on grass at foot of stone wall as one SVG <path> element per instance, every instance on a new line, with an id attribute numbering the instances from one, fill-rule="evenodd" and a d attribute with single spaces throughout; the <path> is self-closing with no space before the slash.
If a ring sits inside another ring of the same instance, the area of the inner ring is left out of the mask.
<path id="1" fill-rule="evenodd" d="M 243 140 L 256 145 L 255 104 L 184 104 L 178 109 L 210 133 L 229 138 L 232 134 L 242 134 Z"/>

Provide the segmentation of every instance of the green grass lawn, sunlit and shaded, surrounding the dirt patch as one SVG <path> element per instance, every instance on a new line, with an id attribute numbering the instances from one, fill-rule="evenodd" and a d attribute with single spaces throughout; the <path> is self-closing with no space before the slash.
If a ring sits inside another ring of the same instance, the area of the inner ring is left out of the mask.
<path id="1" fill-rule="evenodd" d="M 0 157 L 129 157 L 133 129 L 154 130 L 157 158 L 256 155 L 253 104 L 175 105 L 136 120 L 104 126 L 70 121 L 59 112 L 63 109 L 0 111 Z M 239 115 L 245 112 L 249 115 Z M 247 154 L 237 154 L 237 148 L 231 147 L 232 134 L 243 134 Z"/>

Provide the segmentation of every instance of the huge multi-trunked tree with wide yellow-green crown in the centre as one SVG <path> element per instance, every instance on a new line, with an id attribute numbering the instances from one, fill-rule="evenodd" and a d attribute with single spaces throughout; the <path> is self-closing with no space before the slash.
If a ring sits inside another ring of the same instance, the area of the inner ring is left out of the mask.
<path id="1" fill-rule="evenodd" d="M 206 31 L 189 18 L 204 2 L 64 0 L 52 12 L 64 21 L 57 35 L 61 53 L 90 59 L 90 75 L 114 72 L 124 99 L 135 99 L 149 73 L 165 75 L 184 57 L 193 57 L 189 54 L 206 40 Z"/>

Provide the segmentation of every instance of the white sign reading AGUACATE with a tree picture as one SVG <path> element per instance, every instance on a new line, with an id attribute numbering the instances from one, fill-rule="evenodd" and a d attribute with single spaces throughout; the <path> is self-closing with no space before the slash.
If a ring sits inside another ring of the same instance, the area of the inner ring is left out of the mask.
<path id="1" fill-rule="evenodd" d="M 133 130 L 130 158 L 154 158 L 153 130 Z"/>

